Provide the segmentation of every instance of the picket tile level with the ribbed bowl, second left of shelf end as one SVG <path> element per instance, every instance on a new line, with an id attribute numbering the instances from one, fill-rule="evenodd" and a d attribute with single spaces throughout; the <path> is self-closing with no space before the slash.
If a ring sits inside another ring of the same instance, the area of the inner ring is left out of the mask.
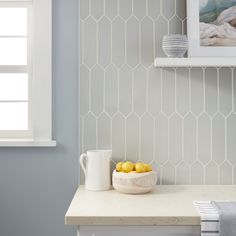
<path id="1" fill-rule="evenodd" d="M 131 17 L 126 24 L 126 61 L 131 67 L 139 64 L 139 34 L 139 21 L 135 17 Z"/>

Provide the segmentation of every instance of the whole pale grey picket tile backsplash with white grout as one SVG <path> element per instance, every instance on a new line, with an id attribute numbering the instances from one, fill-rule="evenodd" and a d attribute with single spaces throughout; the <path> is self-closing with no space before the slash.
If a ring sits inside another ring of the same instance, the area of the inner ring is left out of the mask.
<path id="1" fill-rule="evenodd" d="M 153 67 L 185 2 L 80 0 L 80 150 L 150 162 L 159 184 L 235 184 L 235 70 Z"/>

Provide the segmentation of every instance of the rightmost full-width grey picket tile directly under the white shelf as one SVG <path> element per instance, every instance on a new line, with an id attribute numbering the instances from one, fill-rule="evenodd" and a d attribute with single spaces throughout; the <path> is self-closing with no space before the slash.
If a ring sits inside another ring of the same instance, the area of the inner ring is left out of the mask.
<path id="1" fill-rule="evenodd" d="M 220 111 L 228 115 L 232 111 L 232 70 L 222 68 L 219 79 L 219 103 Z"/>

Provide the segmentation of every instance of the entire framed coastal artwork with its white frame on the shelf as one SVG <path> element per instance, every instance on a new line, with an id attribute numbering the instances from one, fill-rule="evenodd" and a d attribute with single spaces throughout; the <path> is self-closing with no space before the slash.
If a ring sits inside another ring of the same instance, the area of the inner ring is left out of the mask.
<path id="1" fill-rule="evenodd" d="M 236 57 L 236 0 L 187 0 L 189 57 Z"/>

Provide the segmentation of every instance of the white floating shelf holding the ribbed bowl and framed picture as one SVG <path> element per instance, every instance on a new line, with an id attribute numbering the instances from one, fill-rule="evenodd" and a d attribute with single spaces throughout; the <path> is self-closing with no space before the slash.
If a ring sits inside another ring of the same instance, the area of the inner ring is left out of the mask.
<path id="1" fill-rule="evenodd" d="M 236 57 L 157 57 L 155 67 L 236 67 Z"/>

